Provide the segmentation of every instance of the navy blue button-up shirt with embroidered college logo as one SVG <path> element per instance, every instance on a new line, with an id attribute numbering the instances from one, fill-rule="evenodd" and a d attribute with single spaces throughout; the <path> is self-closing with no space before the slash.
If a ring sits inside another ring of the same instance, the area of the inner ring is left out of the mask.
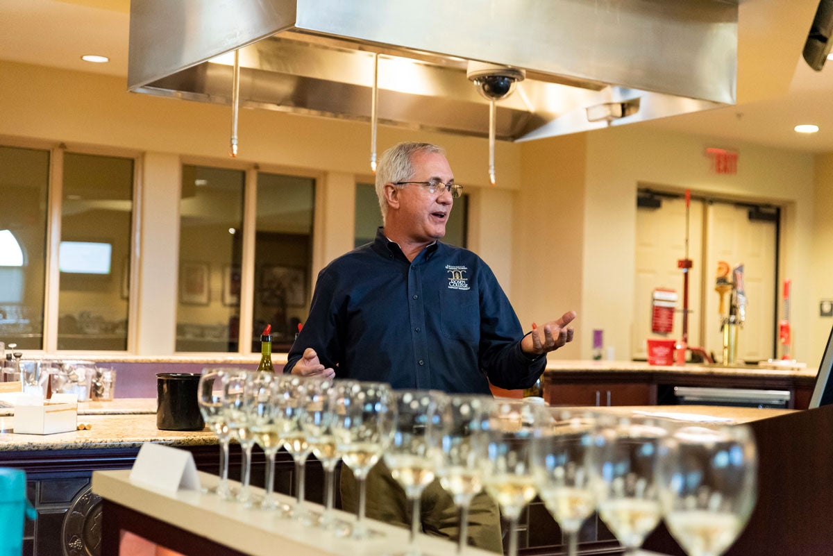
<path id="1" fill-rule="evenodd" d="M 379 228 L 375 241 L 319 273 L 284 372 L 312 347 L 337 378 L 466 394 L 488 394 L 486 377 L 528 388 L 546 357 L 525 355 L 523 335 L 479 256 L 437 241 L 410 262 Z"/>

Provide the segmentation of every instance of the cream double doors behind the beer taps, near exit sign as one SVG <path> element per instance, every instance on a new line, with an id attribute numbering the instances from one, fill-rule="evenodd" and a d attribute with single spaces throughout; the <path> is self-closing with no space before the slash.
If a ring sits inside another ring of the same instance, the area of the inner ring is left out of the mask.
<path id="1" fill-rule="evenodd" d="M 722 359 L 719 295 L 715 290 L 718 261 L 731 268 L 744 265 L 746 322 L 738 337 L 738 358 L 775 357 L 777 291 L 777 226 L 774 221 L 751 220 L 749 207 L 726 202 L 691 200 L 689 211 L 688 343 L 714 352 Z M 655 288 L 679 295 L 674 327 L 668 338 L 682 336 L 683 272 L 677 261 L 686 256 L 686 201 L 662 198 L 660 208 L 636 211 L 636 295 L 631 355 L 646 357 L 645 340 L 651 332 L 651 295 Z M 730 276 L 731 279 L 731 276 Z M 726 295 L 728 304 L 729 295 Z"/>

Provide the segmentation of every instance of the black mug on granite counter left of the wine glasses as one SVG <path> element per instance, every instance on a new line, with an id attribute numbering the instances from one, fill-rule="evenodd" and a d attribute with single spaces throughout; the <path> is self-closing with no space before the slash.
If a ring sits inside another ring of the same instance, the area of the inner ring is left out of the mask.
<path id="1" fill-rule="evenodd" d="M 202 430 L 197 385 L 201 375 L 157 373 L 157 429 Z"/>

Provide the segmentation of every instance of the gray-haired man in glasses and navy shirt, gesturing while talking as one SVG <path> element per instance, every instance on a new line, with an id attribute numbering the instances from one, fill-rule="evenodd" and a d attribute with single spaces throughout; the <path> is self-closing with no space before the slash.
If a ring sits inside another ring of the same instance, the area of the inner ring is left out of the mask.
<path id="1" fill-rule="evenodd" d="M 318 275 L 285 373 L 465 394 L 489 394 L 490 382 L 506 389 L 535 384 L 546 352 L 572 340 L 567 325 L 576 313 L 524 335 L 486 263 L 438 241 L 461 189 L 439 146 L 401 143 L 382 154 L 376 191 L 384 226 L 371 244 Z M 368 478 L 368 492 L 369 517 L 410 524 L 404 492 L 382 464 Z M 435 481 L 423 499 L 426 532 L 453 536 L 451 497 Z M 346 509 L 355 504 L 347 472 L 342 500 Z M 472 543 L 501 552 L 499 514 L 486 494 L 472 503 L 470 519 Z"/>

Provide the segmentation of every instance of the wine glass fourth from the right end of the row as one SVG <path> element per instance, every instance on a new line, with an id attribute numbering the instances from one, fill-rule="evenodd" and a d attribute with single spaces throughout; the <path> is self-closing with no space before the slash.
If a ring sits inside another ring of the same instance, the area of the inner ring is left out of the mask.
<path id="1" fill-rule="evenodd" d="M 536 494 L 532 476 L 532 439 L 551 427 L 546 407 L 496 402 L 489 414 L 483 487 L 509 520 L 508 556 L 517 556 L 517 523 Z"/>

